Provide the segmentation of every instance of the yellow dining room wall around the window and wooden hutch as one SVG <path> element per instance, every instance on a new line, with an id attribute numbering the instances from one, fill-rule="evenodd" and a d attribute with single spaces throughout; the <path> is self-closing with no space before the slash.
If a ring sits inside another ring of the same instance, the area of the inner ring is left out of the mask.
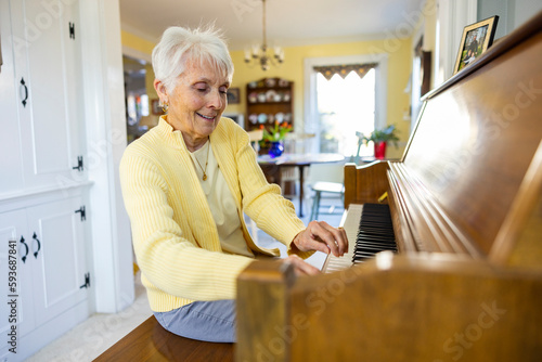
<path id="1" fill-rule="evenodd" d="M 151 54 L 154 44 L 138 38 L 127 31 L 122 31 L 122 46 Z M 388 85 L 387 85 L 387 124 L 396 125 L 401 141 L 405 142 L 409 137 L 410 121 L 403 120 L 403 114 L 410 106 L 409 94 L 404 88 L 409 81 L 412 68 L 412 41 L 411 39 L 384 39 L 372 41 L 358 41 L 348 43 L 333 43 L 320 46 L 305 46 L 285 48 L 285 62 L 280 68 L 271 68 L 263 72 L 257 67 L 248 68 L 244 63 L 243 51 L 232 51 L 231 56 L 235 66 L 232 87 L 240 88 L 240 104 L 228 106 L 227 113 L 246 112 L 246 83 L 264 77 L 281 77 L 293 80 L 294 90 L 294 114 L 296 125 L 304 121 L 304 61 L 306 57 L 320 56 L 344 56 L 356 54 L 374 54 L 375 52 L 388 51 Z M 152 77 L 152 74 L 150 75 Z M 150 94 L 150 100 L 153 96 Z M 296 129 L 298 126 L 296 126 Z M 398 157 L 401 150 L 395 151 L 389 147 L 390 157 Z"/>

